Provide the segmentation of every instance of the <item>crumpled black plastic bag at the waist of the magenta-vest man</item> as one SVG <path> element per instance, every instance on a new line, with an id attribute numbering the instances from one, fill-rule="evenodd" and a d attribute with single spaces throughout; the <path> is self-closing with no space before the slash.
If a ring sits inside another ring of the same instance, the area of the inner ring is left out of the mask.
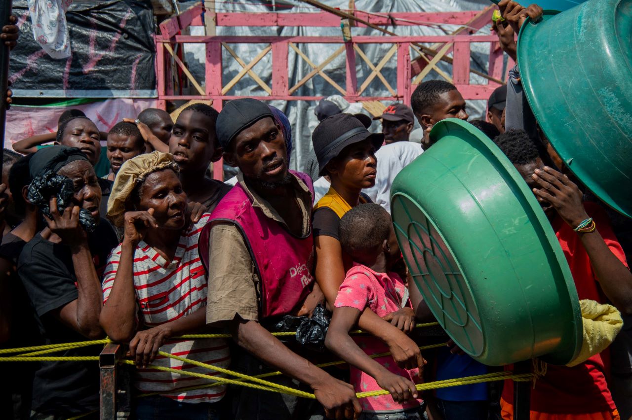
<path id="1" fill-rule="evenodd" d="M 274 329 L 279 332 L 296 331 L 296 341 L 301 346 L 314 351 L 324 351 L 325 335 L 327 335 L 330 320 L 331 312 L 326 310 L 324 306 L 318 305 L 311 318 L 305 315 L 302 317 L 285 315 L 281 321 L 274 325 Z"/>

